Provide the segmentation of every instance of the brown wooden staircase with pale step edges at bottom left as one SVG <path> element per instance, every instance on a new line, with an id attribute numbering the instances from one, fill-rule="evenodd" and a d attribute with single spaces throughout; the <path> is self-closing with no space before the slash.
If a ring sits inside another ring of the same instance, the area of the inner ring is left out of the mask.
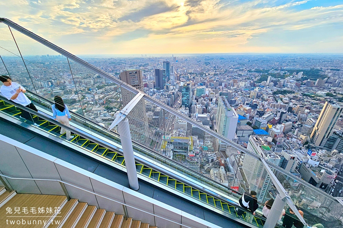
<path id="1" fill-rule="evenodd" d="M 17 194 L 0 187 L 1 228 L 157 228 L 65 196 Z"/>

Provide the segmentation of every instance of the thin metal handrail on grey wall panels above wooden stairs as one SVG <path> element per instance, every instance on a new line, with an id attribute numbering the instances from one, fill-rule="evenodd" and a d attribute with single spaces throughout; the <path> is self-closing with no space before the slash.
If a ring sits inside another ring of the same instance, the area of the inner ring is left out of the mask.
<path id="1" fill-rule="evenodd" d="M 183 227 L 187 227 L 187 228 L 193 228 L 193 227 L 189 227 L 189 226 L 186 226 L 186 225 L 184 225 L 184 224 L 181 224 L 181 223 L 175 222 L 175 221 L 173 221 L 173 220 L 170 220 L 170 219 L 164 218 L 164 217 L 162 217 L 162 216 L 159 216 L 159 215 L 152 214 L 152 213 L 150 213 L 150 212 L 144 211 L 144 210 L 142 210 L 142 209 L 139 209 L 139 208 L 137 208 L 137 207 L 131 206 L 131 205 L 129 205 L 129 204 L 122 203 L 122 202 L 120 202 L 120 201 L 117 201 L 117 200 L 111 199 L 111 198 L 109 198 L 109 197 L 106 197 L 106 196 L 100 195 L 100 194 L 98 194 L 98 193 L 95 193 L 95 192 L 89 191 L 89 190 L 87 190 L 87 189 L 84 189 L 84 188 L 78 187 L 78 186 L 76 186 L 76 185 L 70 184 L 70 183 L 68 183 L 68 182 L 65 182 L 65 181 L 63 181 L 63 180 L 54 180 L 54 179 L 37 179 L 37 178 L 18 178 L 18 177 L 10 177 L 10 176 L 3 175 L 3 174 L 0 174 L 0 176 L 2 176 L 2 177 L 5 177 L 5 178 L 9 178 L 9 179 L 14 179 L 14 180 L 44 180 L 44 181 L 56 181 L 56 182 L 59 182 L 59 183 L 62 183 L 62 184 L 66 184 L 66 185 L 72 186 L 72 187 L 74 187 L 74 188 L 78 188 L 78 189 L 80 189 L 80 190 L 86 191 L 86 192 L 88 192 L 88 193 L 91 193 L 91 194 L 93 194 L 93 195 L 96 195 L 96 196 L 99 196 L 99 197 L 102 197 L 102 198 L 105 198 L 105 199 L 111 200 L 111 201 L 113 201 L 113 202 L 120 203 L 120 204 L 122 204 L 122 205 L 124 205 L 124 206 L 131 207 L 131 208 L 133 208 L 133 209 L 135 209 L 135 210 L 138 210 L 138 211 L 141 211 L 141 212 L 147 213 L 147 214 L 149 214 L 149 215 L 156 216 L 156 217 L 158 217 L 158 218 L 162 218 L 162 219 L 164 219 L 164 220 L 167 220 L 168 222 L 172 222 L 172 223 L 175 223 L 175 224 L 177 224 L 177 225 L 180 225 L 180 226 L 183 226 Z M 68 198 L 68 197 L 69 197 L 69 196 L 67 196 L 67 198 Z"/>

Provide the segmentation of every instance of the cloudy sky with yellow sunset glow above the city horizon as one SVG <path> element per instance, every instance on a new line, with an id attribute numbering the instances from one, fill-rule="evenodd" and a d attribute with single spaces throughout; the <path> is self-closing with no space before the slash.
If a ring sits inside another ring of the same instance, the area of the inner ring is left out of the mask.
<path id="1" fill-rule="evenodd" d="M 343 53 L 343 0 L 1 0 L 0 17 L 73 54 Z"/>

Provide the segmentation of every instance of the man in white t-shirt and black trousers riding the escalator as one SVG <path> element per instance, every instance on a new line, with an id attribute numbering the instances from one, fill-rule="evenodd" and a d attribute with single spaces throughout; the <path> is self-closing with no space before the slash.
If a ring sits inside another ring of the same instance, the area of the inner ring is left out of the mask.
<path id="1" fill-rule="evenodd" d="M 9 100 L 12 100 L 17 104 L 30 108 L 36 112 L 38 111 L 36 106 L 32 104 L 31 100 L 29 100 L 25 95 L 26 90 L 23 86 L 16 82 L 12 82 L 11 78 L 7 75 L 1 75 L 0 81 L 2 81 L 3 83 L 3 85 L 0 88 L 0 92 L 4 97 L 6 97 Z M 25 118 L 27 120 L 31 120 L 32 122 L 34 122 L 31 113 L 22 109 L 20 110 L 22 112 L 20 116 L 21 118 Z M 35 122 L 33 124 L 36 126 L 38 125 Z"/>

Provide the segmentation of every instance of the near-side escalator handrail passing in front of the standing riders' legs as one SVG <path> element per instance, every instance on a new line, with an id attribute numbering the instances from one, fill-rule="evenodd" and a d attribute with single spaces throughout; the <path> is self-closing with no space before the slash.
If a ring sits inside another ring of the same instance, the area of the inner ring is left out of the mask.
<path id="1" fill-rule="evenodd" d="M 2 95 L 0 95 L 0 98 L 2 98 L 2 99 L 4 99 L 4 100 L 6 99 L 6 98 L 3 97 Z M 24 109 L 25 111 L 30 112 L 30 113 L 32 113 L 33 115 L 38 116 L 39 118 L 42 118 L 42 119 L 45 119 L 45 120 L 46 120 L 46 118 L 47 118 L 46 116 L 42 115 L 41 113 L 36 112 L 36 111 L 34 111 L 34 110 L 30 109 L 30 108 L 27 108 L 27 107 L 25 107 L 25 106 L 22 106 L 22 105 L 20 105 L 20 104 L 17 104 L 17 103 L 15 103 L 15 102 L 13 102 L 12 100 L 7 100 L 7 99 L 6 99 L 6 102 L 8 102 L 8 103 L 10 103 L 10 104 L 12 104 L 12 105 L 14 105 L 14 106 L 19 106 L 20 109 Z M 112 146 L 110 146 L 110 145 L 104 144 L 103 142 L 100 142 L 100 141 L 97 140 L 96 138 L 91 138 L 91 137 L 85 135 L 84 133 L 78 131 L 77 129 L 73 129 L 73 128 L 70 128 L 70 127 L 68 127 L 68 126 L 65 126 L 65 125 L 59 123 L 58 121 L 56 121 L 56 120 L 54 120 L 54 119 L 50 119 L 50 120 L 47 120 L 47 121 L 51 121 L 52 123 L 54 123 L 55 125 L 60 126 L 61 128 L 65 128 L 65 129 L 68 129 L 68 130 L 71 131 L 71 132 L 75 132 L 75 133 L 79 134 L 79 135 L 80 135 L 81 137 L 83 137 L 83 138 L 86 138 L 86 139 L 88 139 L 88 140 L 90 140 L 90 141 L 94 141 L 94 142 L 96 142 L 97 144 L 99 144 L 99 145 L 101 145 L 101 146 L 103 146 L 103 147 L 105 147 L 105 148 L 109 148 L 109 149 L 111 149 L 111 150 L 113 150 L 113 151 L 116 151 L 116 152 L 118 152 L 119 154 L 122 155 L 122 152 L 121 152 L 120 150 L 118 150 L 117 148 L 114 148 L 114 147 L 112 147 Z M 69 141 L 68 141 L 68 142 L 69 142 Z M 83 147 L 82 147 L 82 148 L 83 148 Z M 83 149 L 85 149 L 85 148 L 83 148 Z M 94 153 L 94 154 L 97 155 L 97 156 L 100 156 L 100 155 L 98 155 L 97 153 Z M 101 157 L 102 157 L 102 156 L 101 156 Z M 104 157 L 102 157 L 102 158 L 104 158 Z M 137 156 L 134 156 L 134 158 L 135 158 L 136 161 L 138 161 L 138 162 L 140 162 L 140 163 L 146 165 L 146 166 L 149 167 L 150 169 L 158 170 L 159 172 L 164 173 L 164 174 L 166 174 L 166 175 L 168 175 L 168 176 L 171 176 L 171 177 L 173 177 L 173 178 L 176 179 L 176 180 L 180 180 L 181 182 L 183 182 L 183 183 L 185 183 L 185 184 L 187 184 L 187 185 L 189 185 L 189 186 L 192 186 L 192 187 L 194 187 L 194 188 L 196 188 L 196 189 L 200 189 L 201 191 L 205 192 L 205 193 L 208 194 L 209 196 L 218 198 L 218 199 L 224 201 L 225 203 L 228 203 L 229 205 L 233 205 L 233 204 L 234 204 L 233 206 L 239 207 L 240 210 L 243 210 L 243 211 L 245 211 L 245 212 L 247 212 L 247 213 L 250 213 L 248 210 L 244 209 L 244 208 L 241 207 L 239 204 L 236 204 L 235 202 L 230 202 L 230 201 L 228 201 L 227 199 L 223 198 L 221 195 L 217 195 L 216 193 L 214 193 L 214 192 L 212 192 L 212 191 L 209 191 L 208 189 L 203 188 L 202 186 L 198 186 L 196 183 L 189 182 L 189 181 L 188 181 L 187 179 L 185 179 L 185 178 L 182 178 L 182 177 L 180 177 L 180 176 L 178 176 L 178 175 L 174 175 L 173 172 L 169 172 L 169 171 L 167 171 L 167 170 L 162 170 L 162 171 L 161 171 L 161 167 L 159 167 L 159 166 L 157 166 L 157 165 L 154 165 L 153 163 L 147 162 L 146 160 L 141 159 L 140 157 L 137 157 Z M 100 161 L 99 161 L 99 162 L 100 162 Z M 185 194 L 186 194 L 186 193 L 185 193 Z M 187 195 L 187 194 L 186 194 L 186 195 Z M 251 213 L 250 213 L 250 214 L 251 214 Z M 259 215 L 254 215 L 254 216 L 256 216 L 256 217 L 258 217 L 258 218 L 260 218 L 260 219 L 265 220 L 265 218 L 263 218 L 262 216 L 259 216 Z"/>

